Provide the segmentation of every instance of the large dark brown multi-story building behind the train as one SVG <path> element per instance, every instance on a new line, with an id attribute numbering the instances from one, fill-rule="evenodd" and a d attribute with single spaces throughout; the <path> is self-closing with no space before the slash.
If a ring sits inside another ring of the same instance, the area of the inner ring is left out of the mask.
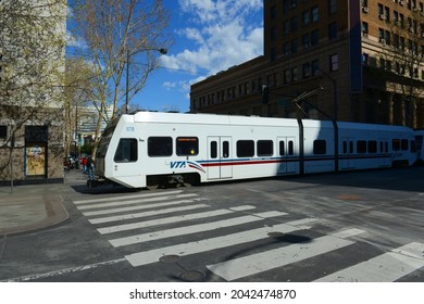
<path id="1" fill-rule="evenodd" d="M 423 127 L 423 3 L 264 0 L 264 54 L 192 85 L 190 112 Z"/>

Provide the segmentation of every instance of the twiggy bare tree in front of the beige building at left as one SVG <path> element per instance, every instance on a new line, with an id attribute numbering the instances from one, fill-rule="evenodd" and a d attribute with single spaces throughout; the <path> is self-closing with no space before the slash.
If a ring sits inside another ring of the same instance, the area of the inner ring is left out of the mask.
<path id="1" fill-rule="evenodd" d="M 63 150 L 61 79 L 65 20 L 66 0 L 0 2 L 0 124 L 9 129 L 0 147 L 0 178 L 8 176 L 13 151 L 23 150 L 23 144 L 14 143 L 24 142 L 27 124 L 48 124 L 55 130 L 49 134 L 49 153 L 60 155 Z M 9 176 L 13 178 L 12 169 Z"/>

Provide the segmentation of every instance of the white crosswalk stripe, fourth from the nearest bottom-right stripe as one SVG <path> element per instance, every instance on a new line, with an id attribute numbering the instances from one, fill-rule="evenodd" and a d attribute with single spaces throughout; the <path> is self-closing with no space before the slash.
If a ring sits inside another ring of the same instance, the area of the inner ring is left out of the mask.
<path id="1" fill-rule="evenodd" d="M 211 230 L 225 228 L 225 227 L 233 227 L 233 226 L 248 224 L 248 223 L 254 223 L 254 221 L 262 220 L 264 218 L 270 218 L 270 217 L 275 217 L 280 215 L 286 215 L 286 213 L 272 212 L 272 213 L 252 214 L 252 215 L 233 217 L 229 219 L 217 220 L 212 223 L 185 226 L 185 227 L 179 227 L 179 228 L 174 228 L 169 230 L 161 230 L 157 232 L 130 236 L 126 238 L 119 238 L 119 239 L 109 240 L 109 242 L 115 248 L 124 246 L 124 245 L 142 243 L 142 242 L 148 242 L 153 240 L 179 237 L 183 235 L 191 235 L 191 233 L 198 233 L 203 231 L 211 231 Z"/>

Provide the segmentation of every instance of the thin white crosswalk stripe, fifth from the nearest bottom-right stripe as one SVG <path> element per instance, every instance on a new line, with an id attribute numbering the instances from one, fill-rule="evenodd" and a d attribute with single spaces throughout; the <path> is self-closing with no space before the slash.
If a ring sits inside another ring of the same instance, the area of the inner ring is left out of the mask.
<path id="1" fill-rule="evenodd" d="M 160 225 L 182 223 L 182 221 L 187 221 L 187 220 L 192 220 L 192 219 L 214 217 L 214 216 L 220 216 L 220 215 L 225 215 L 225 214 L 230 214 L 230 213 L 234 213 L 234 211 L 233 210 L 214 210 L 214 211 L 202 212 L 202 213 L 192 213 L 192 214 L 187 214 L 187 215 L 164 217 L 164 218 L 159 218 L 159 219 L 144 220 L 144 221 L 138 221 L 138 223 L 125 224 L 125 225 L 102 227 L 102 228 L 99 228 L 97 230 L 100 232 L 100 235 L 108 235 L 108 233 L 115 233 L 115 232 L 120 232 L 120 231 L 147 228 L 147 227 L 152 227 L 152 226 L 160 226 Z"/>

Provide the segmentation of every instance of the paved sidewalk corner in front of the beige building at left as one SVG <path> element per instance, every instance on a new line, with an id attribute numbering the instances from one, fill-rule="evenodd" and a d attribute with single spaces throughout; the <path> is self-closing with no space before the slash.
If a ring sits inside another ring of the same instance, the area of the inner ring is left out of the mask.
<path id="1" fill-rule="evenodd" d="M 64 183 L 16 186 L 13 193 L 11 187 L 0 187 L 0 236 L 30 232 L 67 219 L 62 193 L 82 175 L 71 170 Z"/>

